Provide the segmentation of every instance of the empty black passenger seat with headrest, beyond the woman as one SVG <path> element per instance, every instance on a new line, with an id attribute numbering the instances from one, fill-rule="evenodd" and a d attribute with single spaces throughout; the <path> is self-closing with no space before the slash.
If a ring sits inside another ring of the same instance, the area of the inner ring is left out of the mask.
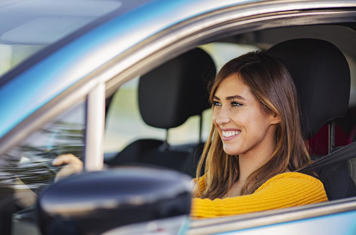
<path id="1" fill-rule="evenodd" d="M 170 128 L 178 127 L 188 117 L 201 115 L 210 107 L 207 83 L 215 73 L 211 57 L 195 48 L 141 76 L 138 104 L 142 119 L 152 127 L 166 129 L 168 134 Z M 200 142 L 175 147 L 169 145 L 167 138 L 143 139 L 132 142 L 107 163 L 146 163 L 194 175 L 202 148 Z"/>

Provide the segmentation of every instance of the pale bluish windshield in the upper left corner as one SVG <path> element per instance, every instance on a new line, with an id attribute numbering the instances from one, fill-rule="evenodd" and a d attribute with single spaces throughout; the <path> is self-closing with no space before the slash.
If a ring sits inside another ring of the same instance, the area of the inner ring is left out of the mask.
<path id="1" fill-rule="evenodd" d="M 40 49 L 147 0 L 0 0 L 0 76 Z"/>

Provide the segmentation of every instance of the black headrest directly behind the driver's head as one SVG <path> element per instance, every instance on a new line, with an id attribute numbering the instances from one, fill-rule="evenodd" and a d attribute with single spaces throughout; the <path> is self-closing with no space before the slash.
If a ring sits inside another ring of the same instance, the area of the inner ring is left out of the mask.
<path id="1" fill-rule="evenodd" d="M 319 39 L 294 39 L 268 50 L 284 62 L 297 87 L 305 139 L 348 109 L 350 68 L 335 45 Z"/>

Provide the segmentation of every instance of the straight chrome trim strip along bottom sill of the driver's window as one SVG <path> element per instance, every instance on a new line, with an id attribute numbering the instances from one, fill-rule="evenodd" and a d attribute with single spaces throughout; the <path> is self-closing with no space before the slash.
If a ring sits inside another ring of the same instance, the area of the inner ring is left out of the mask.
<path id="1" fill-rule="evenodd" d="M 310 219 L 352 210 L 356 210 L 355 197 L 231 217 L 193 220 L 190 224 L 190 230 L 187 235 L 206 235 L 232 232 Z"/>

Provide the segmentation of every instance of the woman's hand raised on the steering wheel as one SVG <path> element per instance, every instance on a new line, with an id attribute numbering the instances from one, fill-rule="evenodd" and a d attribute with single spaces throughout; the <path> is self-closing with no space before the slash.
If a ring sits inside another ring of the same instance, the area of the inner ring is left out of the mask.
<path id="1" fill-rule="evenodd" d="M 63 166 L 57 173 L 55 182 L 83 170 L 83 162 L 71 153 L 59 155 L 52 162 L 52 165 L 54 166 L 60 166 L 63 164 L 66 165 Z"/>

